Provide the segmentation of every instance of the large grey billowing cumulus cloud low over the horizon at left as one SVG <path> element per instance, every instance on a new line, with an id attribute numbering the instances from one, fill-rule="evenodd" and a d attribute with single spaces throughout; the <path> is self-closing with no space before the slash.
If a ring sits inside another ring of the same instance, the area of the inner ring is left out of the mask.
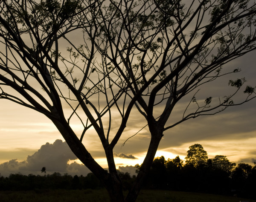
<path id="1" fill-rule="evenodd" d="M 56 140 L 53 144 L 47 142 L 42 145 L 37 152 L 27 156 L 25 161 L 19 162 L 17 159 L 12 159 L 0 164 L 0 173 L 2 176 L 9 176 L 10 173 L 41 174 L 41 168 L 46 167 L 48 174 L 59 172 L 61 174 L 87 175 L 90 170 L 84 165 L 76 162 L 67 164 L 69 160 L 75 159 L 77 157 L 72 153 L 67 143 Z"/>

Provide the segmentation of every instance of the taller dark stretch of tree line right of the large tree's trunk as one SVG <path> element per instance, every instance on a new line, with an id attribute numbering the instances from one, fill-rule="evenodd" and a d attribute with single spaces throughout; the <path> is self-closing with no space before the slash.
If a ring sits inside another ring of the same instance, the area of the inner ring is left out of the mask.
<path id="1" fill-rule="evenodd" d="M 144 188 L 256 198 L 256 162 L 254 166 L 236 165 L 223 155 L 208 159 L 201 144 L 190 146 L 185 160 L 184 163 L 179 156 L 167 160 L 164 156 L 155 158 Z"/>

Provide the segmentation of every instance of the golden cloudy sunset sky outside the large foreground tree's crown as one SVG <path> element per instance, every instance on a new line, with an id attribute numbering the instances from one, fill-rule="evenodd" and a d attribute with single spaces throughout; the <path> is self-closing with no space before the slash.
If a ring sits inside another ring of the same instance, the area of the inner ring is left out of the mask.
<path id="1" fill-rule="evenodd" d="M 76 36 L 74 36 L 76 37 Z M 63 47 L 64 48 L 64 47 Z M 237 58 L 226 64 L 227 68 L 241 68 L 236 75 L 224 78 L 202 88 L 207 96 L 231 94 L 228 87 L 229 79 L 245 77 L 246 85 L 256 86 L 256 52 Z M 239 94 L 242 96 L 243 94 Z M 206 97 L 207 97 L 206 96 Z M 171 119 L 182 116 L 186 100 L 181 100 L 175 107 Z M 41 168 L 46 167 L 47 173 L 60 172 L 72 175 L 86 175 L 90 171 L 81 165 L 70 151 L 61 134 L 47 117 L 18 104 L 0 99 L 0 174 L 10 173 L 40 174 Z M 256 162 L 256 99 L 243 105 L 229 107 L 222 113 L 201 116 L 185 121 L 170 130 L 166 130 L 160 142 L 156 156 L 181 159 L 193 144 L 201 144 L 209 158 L 224 155 L 231 162 Z M 117 127 L 119 120 L 113 123 Z M 78 128 L 78 122 L 72 123 Z M 150 134 L 147 128 L 122 144 L 128 137 L 137 133 L 145 122 L 143 117 L 133 110 L 129 118 L 124 136 L 114 149 L 116 167 L 122 172 L 135 174 L 132 166 L 141 164 L 146 154 Z M 105 153 L 99 138 L 92 136 L 84 139 L 89 152 L 102 167 L 107 167 Z"/>

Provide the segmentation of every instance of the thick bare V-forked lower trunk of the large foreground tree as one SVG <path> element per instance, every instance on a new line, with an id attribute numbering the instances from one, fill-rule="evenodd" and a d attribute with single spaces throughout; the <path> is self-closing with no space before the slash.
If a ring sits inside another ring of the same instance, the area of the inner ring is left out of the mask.
<path id="1" fill-rule="evenodd" d="M 150 170 L 154 156 L 157 152 L 158 145 L 163 136 L 162 130 L 157 127 L 157 124 L 154 124 L 154 127 L 150 127 L 151 141 L 148 147 L 147 155 L 143 161 L 143 164 L 141 165 L 140 172 L 136 177 L 133 188 L 129 191 L 126 199 L 124 199 L 122 192 L 122 182 L 118 173 L 116 172 L 116 168 L 113 166 L 114 164 L 109 164 L 110 170 L 109 173 L 107 173 L 107 171 L 105 171 L 99 164 L 97 164 L 92 156 L 90 156 L 90 153 L 88 153 L 84 145 L 81 144 L 79 139 L 75 136 L 65 121 L 60 122 L 53 120 L 53 123 L 61 132 L 73 153 L 96 175 L 96 177 L 98 177 L 98 179 L 103 182 L 105 188 L 108 190 L 111 202 L 135 202 L 140 189 L 142 188 L 143 181 L 146 178 L 148 171 Z M 109 163 L 109 161 L 112 159 L 111 157 L 113 156 L 111 156 L 109 153 L 106 153 L 106 155 Z"/>

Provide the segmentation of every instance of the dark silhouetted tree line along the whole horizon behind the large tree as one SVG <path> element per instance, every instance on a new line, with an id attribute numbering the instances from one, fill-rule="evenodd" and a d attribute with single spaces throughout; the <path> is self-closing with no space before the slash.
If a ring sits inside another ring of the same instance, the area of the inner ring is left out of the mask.
<path id="1" fill-rule="evenodd" d="M 137 173 L 141 165 L 137 164 Z M 71 176 L 53 173 L 44 176 L 29 174 L 28 176 L 10 174 L 0 177 L 0 190 L 37 190 L 37 189 L 99 189 L 102 182 L 93 173 L 87 176 Z M 107 172 L 107 171 L 106 171 Z M 119 172 L 124 190 L 130 190 L 136 176 Z M 165 189 L 213 193 L 221 195 L 237 195 L 253 198 L 256 196 L 256 163 L 254 166 L 245 163 L 230 162 L 226 156 L 216 155 L 208 159 L 207 152 L 201 144 L 189 147 L 185 162 L 176 156 L 165 159 L 160 156 L 154 159 L 148 176 L 143 184 L 144 189 Z"/>

